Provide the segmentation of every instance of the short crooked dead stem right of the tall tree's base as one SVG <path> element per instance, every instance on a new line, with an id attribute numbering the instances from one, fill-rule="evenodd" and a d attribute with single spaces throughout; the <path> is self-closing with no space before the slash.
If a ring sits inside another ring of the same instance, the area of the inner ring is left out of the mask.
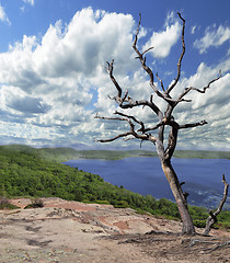
<path id="1" fill-rule="evenodd" d="M 217 222 L 217 215 L 220 214 L 220 211 L 222 210 L 222 207 L 226 203 L 227 196 L 228 196 L 228 188 L 229 188 L 229 184 L 226 181 L 225 174 L 222 174 L 222 183 L 223 183 L 223 195 L 222 195 L 222 199 L 219 204 L 219 207 L 217 208 L 217 210 L 215 213 L 212 213 L 211 210 L 209 211 L 209 217 L 207 218 L 207 222 L 206 222 L 206 228 L 204 231 L 204 235 L 207 236 L 210 231 L 211 226 Z"/>

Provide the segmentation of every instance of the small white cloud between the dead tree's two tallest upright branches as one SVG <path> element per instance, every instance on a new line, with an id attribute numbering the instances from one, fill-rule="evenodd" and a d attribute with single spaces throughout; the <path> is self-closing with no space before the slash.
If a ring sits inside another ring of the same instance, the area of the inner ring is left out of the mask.
<path id="1" fill-rule="evenodd" d="M 164 23 L 164 30 L 161 32 L 153 32 L 151 38 L 143 46 L 143 50 L 153 46 L 150 52 L 156 58 L 168 57 L 173 45 L 179 41 L 181 35 L 181 23 L 175 20 L 173 12 L 169 13 Z"/>

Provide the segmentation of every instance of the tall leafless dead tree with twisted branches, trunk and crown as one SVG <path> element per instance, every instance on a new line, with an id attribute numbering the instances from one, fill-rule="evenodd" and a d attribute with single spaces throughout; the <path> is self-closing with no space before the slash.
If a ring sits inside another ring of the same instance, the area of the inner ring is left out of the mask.
<path id="1" fill-rule="evenodd" d="M 133 115 L 127 115 L 122 112 L 115 112 L 116 117 L 103 117 L 96 115 L 95 118 L 101 118 L 101 119 L 114 119 L 114 121 L 122 121 L 128 123 L 130 129 L 126 133 L 119 134 L 115 136 L 114 138 L 108 138 L 108 139 L 100 139 L 97 141 L 100 142 L 110 142 L 114 141 L 118 138 L 124 138 L 130 139 L 130 138 L 136 138 L 140 139 L 141 141 L 151 141 L 158 152 L 158 157 L 161 162 L 162 170 L 169 181 L 170 187 L 172 190 L 172 193 L 175 197 L 175 202 L 177 204 L 177 208 L 182 218 L 183 222 L 183 233 L 187 235 L 194 235 L 195 233 L 195 228 L 193 220 L 191 218 L 191 215 L 188 213 L 187 208 L 187 194 L 183 193 L 182 191 L 182 184 L 180 183 L 177 175 L 171 164 L 171 158 L 173 156 L 173 152 L 176 147 L 176 140 L 177 140 L 177 135 L 180 129 L 185 129 L 185 128 L 192 128 L 192 127 L 197 127 L 197 126 L 203 126 L 207 124 L 207 122 L 204 119 L 198 123 L 188 123 L 188 124 L 179 124 L 176 119 L 173 117 L 173 111 L 174 108 L 180 104 L 180 103 L 186 103 L 191 102 L 191 100 L 184 99 L 186 94 L 188 94 L 191 91 L 196 91 L 200 93 L 205 93 L 209 88 L 210 84 L 220 79 L 221 72 L 216 79 L 212 79 L 209 81 L 209 83 L 202 88 L 197 89 L 194 87 L 187 87 L 185 88 L 179 95 L 177 98 L 173 98 L 171 95 L 172 90 L 177 85 L 179 80 L 181 78 L 181 66 L 182 66 L 182 59 L 185 54 L 185 43 L 184 43 L 184 31 L 185 31 L 185 20 L 182 18 L 180 13 L 177 13 L 180 20 L 183 23 L 182 26 L 182 35 L 181 35 L 181 41 L 182 41 L 182 53 L 177 61 L 177 75 L 176 78 L 173 80 L 173 82 L 165 88 L 163 84 L 163 81 L 159 78 L 158 73 L 156 73 L 158 81 L 160 82 L 160 89 L 157 88 L 154 83 L 154 73 L 152 72 L 152 69 L 147 65 L 146 62 L 146 56 L 145 54 L 148 53 L 150 49 L 153 47 L 148 48 L 145 52 L 140 52 L 137 47 L 137 42 L 138 42 L 138 34 L 139 34 L 139 28 L 140 28 L 140 21 L 141 21 L 141 15 L 139 19 L 138 27 L 137 27 L 137 33 L 135 35 L 135 39 L 133 43 L 133 48 L 135 53 L 137 54 L 137 59 L 139 59 L 142 69 L 147 72 L 149 76 L 150 80 L 150 87 L 153 91 L 153 94 L 161 98 L 164 102 L 166 102 L 166 110 L 161 111 L 161 108 L 158 107 L 158 105 L 153 102 L 153 95 L 150 95 L 149 101 L 148 100 L 133 100 L 128 95 L 128 90 L 126 92 L 123 92 L 123 89 L 120 88 L 119 83 L 116 81 L 114 75 L 113 75 L 113 69 L 114 69 L 114 60 L 111 62 L 107 62 L 107 71 L 110 75 L 110 78 L 115 85 L 117 90 L 117 95 L 114 98 L 110 98 L 114 100 L 118 106 L 123 110 L 126 108 L 133 108 L 133 107 L 138 107 L 138 106 L 143 106 L 143 107 L 149 107 L 152 111 L 152 114 L 158 116 L 158 124 L 153 125 L 152 127 L 147 127 L 147 125 L 136 118 Z M 138 128 L 136 128 L 138 126 Z M 165 127 L 170 127 L 170 133 L 169 133 L 169 138 L 168 138 L 168 146 L 164 147 L 164 134 L 165 134 Z M 157 132 L 157 135 L 152 135 L 152 133 Z"/>

